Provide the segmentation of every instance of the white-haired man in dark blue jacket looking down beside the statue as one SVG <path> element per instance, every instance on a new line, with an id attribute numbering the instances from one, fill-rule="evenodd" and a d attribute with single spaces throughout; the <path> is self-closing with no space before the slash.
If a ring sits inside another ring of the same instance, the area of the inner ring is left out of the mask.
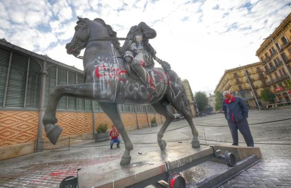
<path id="1" fill-rule="evenodd" d="M 232 96 L 229 91 L 224 91 L 223 96 L 226 98 L 222 102 L 223 114 L 228 122 L 231 136 L 233 137 L 233 145 L 238 145 L 237 129 L 239 129 L 246 141 L 246 145 L 254 147 L 249 123 L 246 120 L 249 112 L 246 104 L 241 98 Z"/>

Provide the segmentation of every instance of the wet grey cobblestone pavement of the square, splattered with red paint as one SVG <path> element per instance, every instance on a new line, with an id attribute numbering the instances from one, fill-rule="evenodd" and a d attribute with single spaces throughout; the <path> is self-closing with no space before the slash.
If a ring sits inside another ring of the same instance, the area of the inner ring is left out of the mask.
<path id="1" fill-rule="evenodd" d="M 290 108 L 250 111 L 248 121 L 249 124 L 267 122 L 290 118 L 290 115 Z M 223 114 L 208 115 L 202 118 L 193 118 L 193 120 L 194 124 L 197 125 L 227 125 Z M 168 142 L 168 147 L 171 145 L 171 141 L 191 138 L 190 127 L 181 128 L 186 125 L 186 120 L 170 124 L 168 130 L 176 130 L 164 134 L 164 140 Z M 157 144 L 150 144 L 156 142 L 156 134 L 134 134 L 156 133 L 160 126 L 128 132 L 134 144 L 134 150 L 131 152 L 132 157 L 137 157 L 138 152 L 159 149 Z M 196 128 L 199 132 L 199 138 L 220 141 L 206 141 L 207 143 L 230 144 L 223 141 L 232 141 L 228 127 L 196 126 Z M 291 121 L 250 125 L 250 128 L 255 147 L 260 147 L 263 158 L 259 163 L 243 171 L 221 187 L 291 187 Z M 190 147 L 190 141 L 183 142 L 189 143 Z M 239 142 L 244 142 L 240 133 Z M 200 143 L 205 143 L 205 140 L 200 140 Z M 274 143 L 289 145 L 270 145 Z M 246 144 L 239 145 L 245 146 Z M 121 149 L 110 150 L 108 141 L 98 143 L 88 141 L 75 144 L 74 147 L 70 147 L 70 151 L 68 148 L 63 148 L 2 160 L 0 161 L 0 187 L 58 187 L 63 178 L 76 176 L 78 168 L 111 160 L 116 160 L 116 163 L 119 164 L 124 151 L 123 147 L 121 145 Z M 184 171 L 182 174 L 186 179 L 187 187 L 195 187 L 195 183 L 227 168 L 226 165 L 220 163 L 205 162 Z"/>

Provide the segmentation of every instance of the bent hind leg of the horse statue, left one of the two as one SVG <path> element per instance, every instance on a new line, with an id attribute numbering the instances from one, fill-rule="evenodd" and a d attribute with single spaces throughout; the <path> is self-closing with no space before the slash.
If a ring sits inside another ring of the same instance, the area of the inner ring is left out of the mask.
<path id="1" fill-rule="evenodd" d="M 160 149 L 166 150 L 167 142 L 163 140 L 162 138 L 164 136 L 164 133 L 167 127 L 172 122 L 174 116 L 168 111 L 167 106 L 165 105 L 162 105 L 160 103 L 155 103 L 155 104 L 152 104 L 152 106 L 154 107 L 155 111 L 157 111 L 157 113 L 165 116 L 166 118 L 166 121 L 164 122 L 163 126 L 161 127 L 157 135 L 157 141 L 158 141 Z"/>

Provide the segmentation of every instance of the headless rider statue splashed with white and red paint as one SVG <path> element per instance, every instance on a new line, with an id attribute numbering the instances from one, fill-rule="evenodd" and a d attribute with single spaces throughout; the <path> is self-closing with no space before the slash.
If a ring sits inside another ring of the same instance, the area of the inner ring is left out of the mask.
<path id="1" fill-rule="evenodd" d="M 132 69 L 139 75 L 142 82 L 148 87 L 150 95 L 157 96 L 157 91 L 152 78 L 145 70 L 145 67 L 154 67 L 154 59 L 156 59 L 156 51 L 148 43 L 148 39 L 153 39 L 157 36 L 154 29 L 150 28 L 144 22 L 137 26 L 132 26 L 127 34 L 127 40 L 122 48 L 125 50 L 123 58 L 127 63 L 131 63 Z"/>

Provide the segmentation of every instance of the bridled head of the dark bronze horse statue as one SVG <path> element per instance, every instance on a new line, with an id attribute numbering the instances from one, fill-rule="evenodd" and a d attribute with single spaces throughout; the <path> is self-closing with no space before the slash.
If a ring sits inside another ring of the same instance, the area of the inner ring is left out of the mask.
<path id="1" fill-rule="evenodd" d="M 72 54 L 77 57 L 81 50 L 86 47 L 86 44 L 82 45 L 88 38 L 90 34 L 90 27 L 87 18 L 78 17 L 77 26 L 75 26 L 75 33 L 72 40 L 66 45 L 67 53 Z M 82 45 L 82 46 L 81 46 Z"/>

